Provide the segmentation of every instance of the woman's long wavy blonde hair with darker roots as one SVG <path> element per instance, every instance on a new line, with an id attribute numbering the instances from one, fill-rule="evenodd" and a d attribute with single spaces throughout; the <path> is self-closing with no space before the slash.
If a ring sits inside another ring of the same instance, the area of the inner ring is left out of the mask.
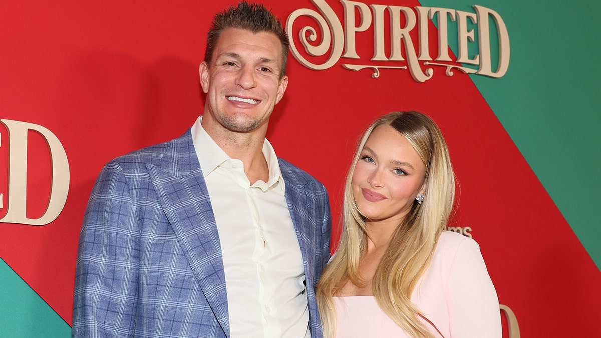
<path id="1" fill-rule="evenodd" d="M 372 280 L 374 297 L 380 309 L 412 337 L 432 337 L 418 319 L 422 314 L 411 302 L 419 278 L 430 266 L 442 230 L 453 209 L 455 180 L 447 143 L 438 126 L 424 114 L 414 111 L 391 112 L 374 121 L 359 141 L 344 189 L 343 231 L 337 253 L 317 283 L 325 337 L 334 337 L 336 316 L 332 297 L 347 280 L 365 283 L 359 275 L 359 262 L 367 248 L 367 229 L 353 198 L 351 178 L 367 138 L 379 126 L 391 126 L 413 146 L 426 164 L 426 196 L 416 201 L 398 225 Z"/>

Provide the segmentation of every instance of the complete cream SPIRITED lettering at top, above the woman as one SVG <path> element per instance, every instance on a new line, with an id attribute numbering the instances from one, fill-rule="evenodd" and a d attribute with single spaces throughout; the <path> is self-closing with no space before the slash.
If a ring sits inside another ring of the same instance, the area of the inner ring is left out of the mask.
<path id="1" fill-rule="evenodd" d="M 501 16 L 490 8 L 474 5 L 475 13 L 471 13 L 441 7 L 367 5 L 358 1 L 340 0 L 344 9 L 344 20 L 341 22 L 325 0 L 311 0 L 311 2 L 317 7 L 319 13 L 310 8 L 299 8 L 290 13 L 286 22 L 292 55 L 309 69 L 328 69 L 340 58 L 361 59 L 362 57 L 356 51 L 357 37 L 373 26 L 373 37 L 371 37 L 373 55 L 370 59 L 373 62 L 343 63 L 344 68 L 354 71 L 371 69 L 373 78 L 380 75 L 380 69 L 408 69 L 417 82 L 432 78 L 435 67 L 446 68 L 447 76 L 453 75 L 453 69 L 493 78 L 500 78 L 507 72 L 510 57 L 507 27 Z M 319 26 L 319 31 L 307 25 L 296 35 L 294 22 L 302 16 L 313 19 Z M 438 55 L 433 60 L 429 49 L 428 24 L 429 20 L 435 17 L 438 19 Z M 490 19 L 495 27 L 490 26 Z M 456 60 L 453 60 L 448 53 L 448 20 L 457 22 L 459 51 Z M 388 29 L 385 28 L 385 22 L 389 22 Z M 491 48 L 490 45 L 490 33 L 493 29 L 498 35 L 498 48 Z M 414 40 L 415 35 L 417 38 Z M 300 38 L 305 54 L 299 50 L 294 41 L 295 36 Z M 315 42 L 318 37 L 320 41 Z M 388 44 L 385 43 L 386 37 L 389 37 Z M 476 40 L 478 54 L 470 57 L 468 44 Z M 498 55 L 495 55 L 495 60 L 498 60 L 496 69 L 493 69 L 492 51 L 498 51 Z M 327 57 L 324 57 L 325 55 Z M 313 63 L 305 56 L 319 61 Z M 387 64 L 383 61 L 404 62 Z M 478 69 L 465 67 L 462 64 L 476 65 Z"/>

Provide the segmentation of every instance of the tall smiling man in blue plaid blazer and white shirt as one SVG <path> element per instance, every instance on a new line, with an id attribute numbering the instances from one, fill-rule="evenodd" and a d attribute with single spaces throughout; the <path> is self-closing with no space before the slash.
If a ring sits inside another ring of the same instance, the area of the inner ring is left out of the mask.
<path id="1" fill-rule="evenodd" d="M 182 137 L 109 162 L 82 226 L 73 336 L 321 337 L 323 185 L 265 139 L 288 40 L 262 5 L 215 16 L 204 114 Z"/>

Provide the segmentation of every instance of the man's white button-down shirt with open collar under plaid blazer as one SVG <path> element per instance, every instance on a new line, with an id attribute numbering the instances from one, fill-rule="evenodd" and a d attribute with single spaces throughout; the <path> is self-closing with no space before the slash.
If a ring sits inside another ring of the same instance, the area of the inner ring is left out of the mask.
<path id="1" fill-rule="evenodd" d="M 268 182 L 251 185 L 201 118 L 192 140 L 221 242 L 231 337 L 310 337 L 301 248 L 273 147 L 265 140 Z"/>

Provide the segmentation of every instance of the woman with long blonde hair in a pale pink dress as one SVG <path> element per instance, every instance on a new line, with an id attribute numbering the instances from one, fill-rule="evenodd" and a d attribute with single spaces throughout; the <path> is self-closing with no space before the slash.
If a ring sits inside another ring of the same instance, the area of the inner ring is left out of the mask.
<path id="1" fill-rule="evenodd" d="M 325 337 L 501 337 L 478 244 L 443 231 L 454 192 L 429 117 L 391 112 L 371 124 L 347 176 L 337 253 L 317 284 Z"/>

